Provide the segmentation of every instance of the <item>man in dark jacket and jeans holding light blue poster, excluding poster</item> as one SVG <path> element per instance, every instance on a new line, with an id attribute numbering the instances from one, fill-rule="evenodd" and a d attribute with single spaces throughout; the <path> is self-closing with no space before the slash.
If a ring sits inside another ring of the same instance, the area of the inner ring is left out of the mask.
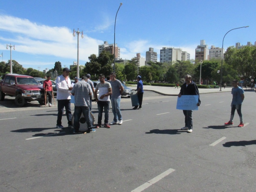
<path id="1" fill-rule="evenodd" d="M 197 95 L 198 102 L 196 105 L 200 106 L 201 100 L 199 96 L 198 87 L 192 81 L 190 75 L 185 76 L 185 83 L 181 86 L 178 97 L 181 97 L 182 95 Z M 185 115 L 185 127 L 182 127 L 181 130 L 188 130 L 187 132 L 191 133 L 193 130 L 192 110 L 183 110 L 183 114 Z"/>

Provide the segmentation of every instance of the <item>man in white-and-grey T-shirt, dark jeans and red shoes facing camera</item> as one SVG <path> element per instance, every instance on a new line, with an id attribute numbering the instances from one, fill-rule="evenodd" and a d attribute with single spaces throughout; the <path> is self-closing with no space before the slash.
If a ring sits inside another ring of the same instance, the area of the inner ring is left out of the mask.
<path id="1" fill-rule="evenodd" d="M 108 112 L 109 112 L 109 95 L 112 94 L 111 84 L 105 81 L 105 75 L 99 75 L 100 83 L 96 85 L 94 98 L 98 104 L 98 124 L 96 128 L 101 127 L 103 108 L 105 112 L 104 127 L 110 128 L 108 125 Z M 97 97 L 97 91 L 99 90 L 99 98 Z"/>

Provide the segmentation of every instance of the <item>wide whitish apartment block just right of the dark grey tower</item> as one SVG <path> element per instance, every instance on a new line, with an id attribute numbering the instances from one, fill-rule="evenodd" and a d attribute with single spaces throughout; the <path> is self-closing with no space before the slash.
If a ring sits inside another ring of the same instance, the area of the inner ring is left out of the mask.
<path id="1" fill-rule="evenodd" d="M 163 47 L 163 49 L 160 50 L 160 63 L 172 63 L 177 60 L 190 60 L 190 54 L 182 51 L 180 48 Z"/>

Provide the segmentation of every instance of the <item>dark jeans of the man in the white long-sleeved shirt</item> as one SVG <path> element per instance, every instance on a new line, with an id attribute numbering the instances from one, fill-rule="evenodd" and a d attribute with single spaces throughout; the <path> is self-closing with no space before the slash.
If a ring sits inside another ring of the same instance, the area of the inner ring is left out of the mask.
<path id="1" fill-rule="evenodd" d="M 62 109 L 65 107 L 66 109 L 66 116 L 68 119 L 68 125 L 71 124 L 72 120 L 72 114 L 71 114 L 71 108 L 70 108 L 70 99 L 64 99 L 64 100 L 58 100 L 58 116 L 57 116 L 57 125 L 61 125 L 61 119 L 62 119 Z"/>

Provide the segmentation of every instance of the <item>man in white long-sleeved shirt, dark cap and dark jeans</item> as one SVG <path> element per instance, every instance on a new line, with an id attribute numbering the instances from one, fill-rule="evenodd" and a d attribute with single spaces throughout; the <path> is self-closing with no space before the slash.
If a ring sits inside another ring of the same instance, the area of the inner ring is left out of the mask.
<path id="1" fill-rule="evenodd" d="M 69 79 L 69 68 L 64 68 L 62 75 L 58 76 L 56 79 L 56 87 L 57 87 L 57 101 L 58 101 L 58 117 L 57 117 L 57 128 L 63 128 L 61 124 L 62 119 L 62 109 L 65 107 L 66 109 L 66 116 L 68 119 L 68 127 L 71 128 L 71 108 L 70 108 L 70 93 L 69 91 L 72 90 L 71 81 Z"/>

